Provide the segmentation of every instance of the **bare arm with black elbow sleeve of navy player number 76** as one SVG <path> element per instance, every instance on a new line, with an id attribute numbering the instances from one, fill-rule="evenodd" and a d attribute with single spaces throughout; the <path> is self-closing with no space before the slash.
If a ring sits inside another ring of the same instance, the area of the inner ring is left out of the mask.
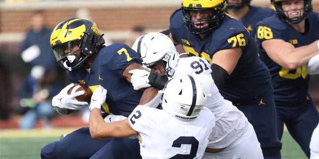
<path id="1" fill-rule="evenodd" d="M 217 51 L 212 58 L 212 77 L 217 87 L 224 84 L 229 75 L 234 71 L 240 56 L 241 47 L 227 48 Z"/>

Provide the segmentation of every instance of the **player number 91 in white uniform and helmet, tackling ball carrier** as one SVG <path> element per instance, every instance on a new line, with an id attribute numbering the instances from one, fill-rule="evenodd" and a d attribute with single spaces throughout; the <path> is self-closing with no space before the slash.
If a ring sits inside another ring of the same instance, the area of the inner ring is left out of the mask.
<path id="1" fill-rule="evenodd" d="M 161 33 L 148 33 L 138 38 L 132 48 L 140 55 L 143 65 L 160 74 L 174 78 L 180 75 L 198 77 L 205 85 L 209 108 L 216 125 L 209 138 L 207 153 L 202 159 L 264 159 L 253 126 L 245 115 L 232 103 L 225 100 L 212 79 L 212 70 L 207 60 L 201 57 L 179 58 L 174 44 Z M 149 73 L 132 70 L 134 89 L 149 87 Z M 249 151 L 247 151 L 249 150 Z"/>

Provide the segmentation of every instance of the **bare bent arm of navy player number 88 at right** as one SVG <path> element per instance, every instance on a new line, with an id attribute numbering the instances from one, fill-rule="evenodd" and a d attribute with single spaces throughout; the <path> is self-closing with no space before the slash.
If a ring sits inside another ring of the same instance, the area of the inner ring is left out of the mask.
<path id="1" fill-rule="evenodd" d="M 262 46 L 272 61 L 288 70 L 306 65 L 313 56 L 319 53 L 318 40 L 309 45 L 294 47 L 284 40 L 270 39 L 264 40 Z"/>

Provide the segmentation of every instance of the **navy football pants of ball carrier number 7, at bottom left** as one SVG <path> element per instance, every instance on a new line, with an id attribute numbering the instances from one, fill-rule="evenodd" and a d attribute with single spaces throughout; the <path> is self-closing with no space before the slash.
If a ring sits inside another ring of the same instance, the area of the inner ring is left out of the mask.
<path id="1" fill-rule="evenodd" d="M 142 159 L 138 139 L 95 140 L 92 139 L 88 127 L 75 130 L 63 139 L 41 149 L 41 159 L 89 159 L 90 157 L 91 159 Z"/>

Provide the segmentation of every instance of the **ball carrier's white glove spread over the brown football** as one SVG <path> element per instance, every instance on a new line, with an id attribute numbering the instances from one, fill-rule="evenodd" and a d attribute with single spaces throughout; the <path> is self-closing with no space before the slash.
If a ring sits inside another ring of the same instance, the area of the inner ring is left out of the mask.
<path id="1" fill-rule="evenodd" d="M 83 90 L 74 92 L 72 94 L 67 94 L 67 91 L 73 86 L 71 83 L 64 87 L 59 94 L 53 97 L 52 106 L 53 108 L 58 107 L 62 109 L 80 110 L 88 106 L 88 102 L 80 102 L 75 99 L 75 97 L 84 94 Z"/>

